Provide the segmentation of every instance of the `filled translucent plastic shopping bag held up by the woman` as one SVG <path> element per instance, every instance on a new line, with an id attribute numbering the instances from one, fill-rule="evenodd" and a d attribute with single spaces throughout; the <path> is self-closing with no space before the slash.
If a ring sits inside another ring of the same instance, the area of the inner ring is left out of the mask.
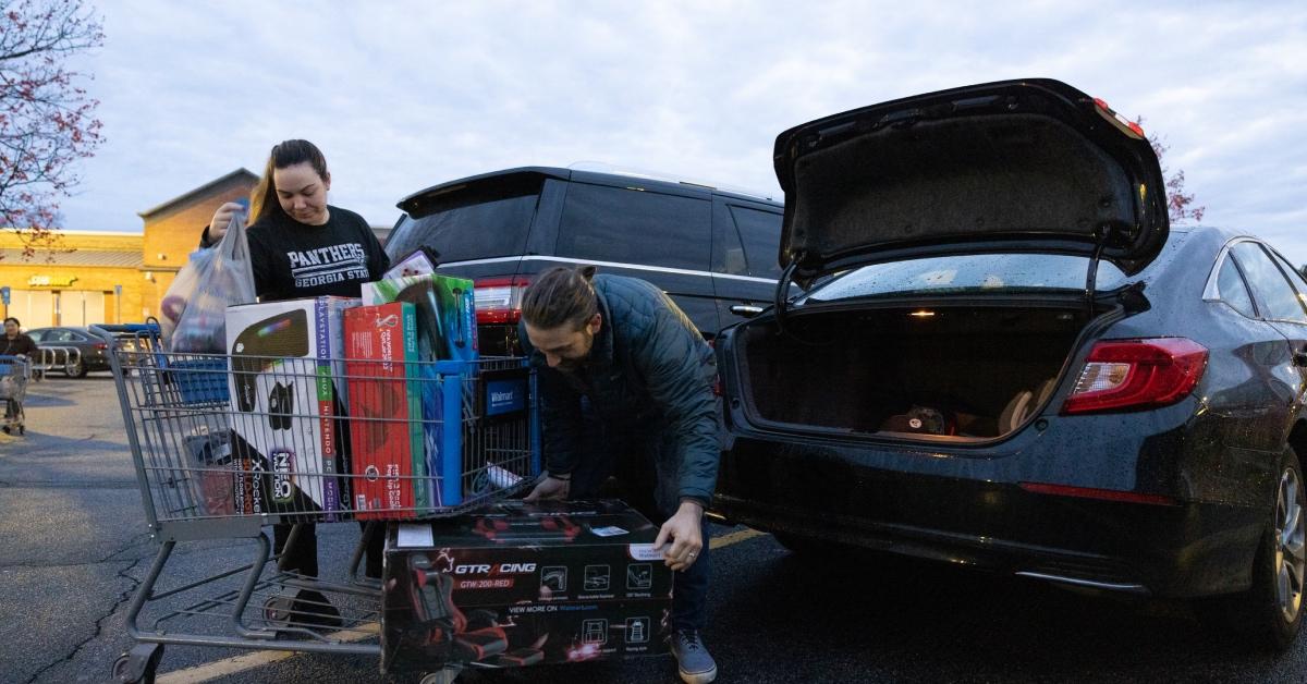
<path id="1" fill-rule="evenodd" d="M 227 306 L 255 299 L 250 243 L 242 214 L 235 214 L 222 241 L 205 251 L 212 254 L 203 255 L 196 263 L 191 294 L 184 298 L 184 309 L 167 340 L 173 352 L 222 353 L 227 341 Z M 173 293 L 171 288 L 169 293 Z"/>

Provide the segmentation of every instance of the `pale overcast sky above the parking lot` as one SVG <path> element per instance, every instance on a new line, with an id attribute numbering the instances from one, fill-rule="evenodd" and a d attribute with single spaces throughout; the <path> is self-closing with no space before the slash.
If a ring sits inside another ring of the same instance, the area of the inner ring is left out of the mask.
<path id="1" fill-rule="evenodd" d="M 107 143 L 64 226 L 139 231 L 137 212 L 259 173 L 289 137 L 325 152 L 333 204 L 378 225 L 416 190 L 523 165 L 778 196 L 771 146 L 791 126 L 1052 77 L 1145 116 L 1205 224 L 1307 263 L 1307 3 L 974 7 L 101 0 L 105 47 L 78 65 Z"/>

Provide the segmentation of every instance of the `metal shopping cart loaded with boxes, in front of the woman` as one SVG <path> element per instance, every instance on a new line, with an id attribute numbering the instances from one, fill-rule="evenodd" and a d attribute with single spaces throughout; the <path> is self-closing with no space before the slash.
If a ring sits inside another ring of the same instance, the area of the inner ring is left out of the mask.
<path id="1" fill-rule="evenodd" d="M 520 358 L 182 354 L 162 351 L 154 324 L 93 331 L 136 337 L 112 347 L 110 366 L 159 544 L 127 613 L 137 645 L 114 663 L 116 681 L 153 681 L 167 643 L 380 662 L 380 583 L 359 565 L 382 521 L 461 515 L 538 480 L 535 379 Z M 295 523 L 291 548 L 303 523 L 346 521 L 367 530 L 339 582 L 288 572 L 264 534 Z M 179 543 L 230 539 L 251 540 L 248 564 L 157 589 Z M 323 603 L 339 617 L 324 620 Z M 434 666 L 423 683 L 457 676 Z"/>

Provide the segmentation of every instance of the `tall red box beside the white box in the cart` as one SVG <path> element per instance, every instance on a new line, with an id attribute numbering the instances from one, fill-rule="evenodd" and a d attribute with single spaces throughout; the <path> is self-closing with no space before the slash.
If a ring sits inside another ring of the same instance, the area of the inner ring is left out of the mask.
<path id="1" fill-rule="evenodd" d="M 430 501 L 412 303 L 345 311 L 350 472 L 361 519 L 414 518 Z M 396 510 L 399 509 L 399 510 Z"/>

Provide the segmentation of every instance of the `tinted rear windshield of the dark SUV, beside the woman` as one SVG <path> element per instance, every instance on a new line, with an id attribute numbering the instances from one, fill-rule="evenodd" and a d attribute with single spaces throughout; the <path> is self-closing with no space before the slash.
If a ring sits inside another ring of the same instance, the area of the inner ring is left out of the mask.
<path id="1" fill-rule="evenodd" d="M 442 263 L 520 255 L 542 179 L 455 191 L 405 216 L 386 242 L 391 259 L 431 247 Z"/>

